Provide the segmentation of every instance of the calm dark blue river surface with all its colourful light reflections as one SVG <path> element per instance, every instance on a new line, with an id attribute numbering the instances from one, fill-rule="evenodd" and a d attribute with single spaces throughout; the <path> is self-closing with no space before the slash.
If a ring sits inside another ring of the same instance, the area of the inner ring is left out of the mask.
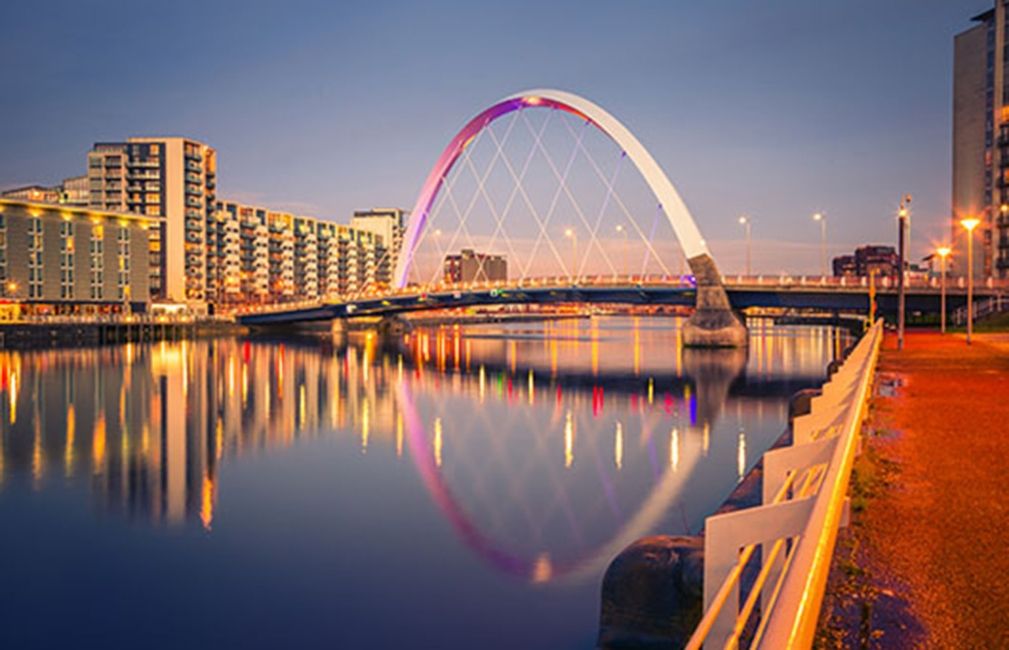
<path id="1" fill-rule="evenodd" d="M 0 352 L 0 647 L 591 648 L 848 342 L 677 326 Z"/>

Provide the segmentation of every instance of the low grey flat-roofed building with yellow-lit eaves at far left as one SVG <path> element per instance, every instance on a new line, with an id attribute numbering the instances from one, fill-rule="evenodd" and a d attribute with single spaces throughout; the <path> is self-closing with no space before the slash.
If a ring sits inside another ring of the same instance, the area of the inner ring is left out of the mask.
<path id="1" fill-rule="evenodd" d="M 29 314 L 142 311 L 159 217 L 0 199 L 0 288 Z"/>

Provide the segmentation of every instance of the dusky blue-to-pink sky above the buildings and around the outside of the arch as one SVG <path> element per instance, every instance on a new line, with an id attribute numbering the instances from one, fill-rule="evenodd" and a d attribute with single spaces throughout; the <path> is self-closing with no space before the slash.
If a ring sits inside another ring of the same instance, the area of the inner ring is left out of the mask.
<path id="1" fill-rule="evenodd" d="M 218 150 L 219 196 L 346 221 L 411 208 L 495 100 L 575 92 L 621 119 L 723 270 L 818 268 L 949 212 L 952 36 L 984 0 L 0 4 L 0 188 L 83 174 L 95 141 Z M 786 259 L 788 261 L 782 261 Z M 726 270 L 727 273 L 727 270 Z"/>

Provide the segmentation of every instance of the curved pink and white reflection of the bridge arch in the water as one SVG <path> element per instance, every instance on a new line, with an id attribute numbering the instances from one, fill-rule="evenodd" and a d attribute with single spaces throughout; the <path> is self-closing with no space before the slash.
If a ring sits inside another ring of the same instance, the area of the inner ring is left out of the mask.
<path id="1" fill-rule="evenodd" d="M 679 494 L 680 486 L 692 473 L 697 460 L 696 455 L 688 454 L 678 470 L 674 471 L 667 467 L 635 516 L 609 541 L 595 549 L 591 555 L 563 564 L 552 564 L 549 557 L 528 559 L 501 549 L 473 525 L 468 514 L 442 479 L 441 471 L 435 465 L 434 453 L 428 444 L 424 425 L 414 407 L 410 389 L 405 383 L 398 386 L 396 396 L 400 412 L 403 414 L 404 432 L 410 447 L 410 456 L 417 466 L 425 488 L 438 508 L 445 513 L 463 542 L 491 565 L 507 573 L 527 577 L 532 581 L 577 578 L 601 572 L 602 568 L 624 547 L 654 528 Z"/>

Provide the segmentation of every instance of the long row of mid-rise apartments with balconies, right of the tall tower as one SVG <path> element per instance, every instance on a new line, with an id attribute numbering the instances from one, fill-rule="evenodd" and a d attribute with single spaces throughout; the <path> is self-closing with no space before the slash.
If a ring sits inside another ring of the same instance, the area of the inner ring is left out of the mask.
<path id="1" fill-rule="evenodd" d="M 215 223 L 226 236 L 208 255 L 222 269 L 208 290 L 221 305 L 337 300 L 391 279 L 385 242 L 368 230 L 234 201 L 217 202 Z"/>

